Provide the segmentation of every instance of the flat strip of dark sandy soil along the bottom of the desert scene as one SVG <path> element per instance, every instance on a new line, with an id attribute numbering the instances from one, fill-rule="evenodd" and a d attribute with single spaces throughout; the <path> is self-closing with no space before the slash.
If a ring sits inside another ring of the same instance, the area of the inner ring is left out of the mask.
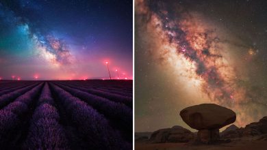
<path id="1" fill-rule="evenodd" d="M 266 150 L 267 140 L 234 140 L 220 145 L 189 145 L 187 143 L 136 144 L 136 150 Z"/>

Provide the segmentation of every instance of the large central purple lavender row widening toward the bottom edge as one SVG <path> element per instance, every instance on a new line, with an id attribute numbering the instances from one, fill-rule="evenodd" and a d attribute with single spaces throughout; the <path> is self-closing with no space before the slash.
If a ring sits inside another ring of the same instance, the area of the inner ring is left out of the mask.
<path id="1" fill-rule="evenodd" d="M 60 115 L 53 104 L 46 83 L 31 119 L 29 134 L 23 145 L 25 149 L 68 149 L 68 141 L 59 123 Z"/>

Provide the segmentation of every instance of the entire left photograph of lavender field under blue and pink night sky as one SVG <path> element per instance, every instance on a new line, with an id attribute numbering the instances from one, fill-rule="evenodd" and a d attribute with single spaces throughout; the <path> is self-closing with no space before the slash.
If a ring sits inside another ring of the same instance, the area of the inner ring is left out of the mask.
<path id="1" fill-rule="evenodd" d="M 133 1 L 0 0 L 1 149 L 133 149 Z"/>

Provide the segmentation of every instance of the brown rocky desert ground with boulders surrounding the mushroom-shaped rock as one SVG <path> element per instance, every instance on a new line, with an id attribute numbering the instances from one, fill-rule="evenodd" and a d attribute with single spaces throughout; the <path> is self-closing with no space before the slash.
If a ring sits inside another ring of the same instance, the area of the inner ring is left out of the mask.
<path id="1" fill-rule="evenodd" d="M 142 135 L 139 133 L 139 135 Z M 190 149 L 234 149 L 261 150 L 267 147 L 267 117 L 246 127 L 230 125 L 220 132 L 220 140 L 209 145 L 196 142 L 196 134 L 178 125 L 157 130 L 152 134 L 136 136 L 137 150 L 190 150 Z"/>

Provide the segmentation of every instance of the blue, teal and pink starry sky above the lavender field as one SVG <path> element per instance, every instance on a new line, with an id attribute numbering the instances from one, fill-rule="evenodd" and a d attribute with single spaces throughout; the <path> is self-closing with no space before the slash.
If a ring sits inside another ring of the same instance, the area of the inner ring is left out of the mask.
<path id="1" fill-rule="evenodd" d="M 0 78 L 133 78 L 132 1 L 0 0 Z M 115 70 L 118 70 L 116 72 Z"/>

